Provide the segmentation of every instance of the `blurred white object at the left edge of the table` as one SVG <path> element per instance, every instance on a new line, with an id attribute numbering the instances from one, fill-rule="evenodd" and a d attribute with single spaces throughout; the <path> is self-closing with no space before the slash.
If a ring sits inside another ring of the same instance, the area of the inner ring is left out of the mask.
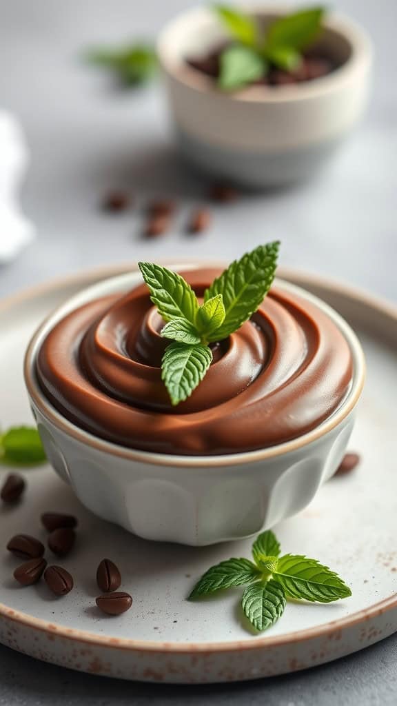
<path id="1" fill-rule="evenodd" d="M 20 126 L 11 114 L 0 110 L 0 263 L 16 257 L 34 237 L 18 200 L 27 165 L 28 150 Z"/>

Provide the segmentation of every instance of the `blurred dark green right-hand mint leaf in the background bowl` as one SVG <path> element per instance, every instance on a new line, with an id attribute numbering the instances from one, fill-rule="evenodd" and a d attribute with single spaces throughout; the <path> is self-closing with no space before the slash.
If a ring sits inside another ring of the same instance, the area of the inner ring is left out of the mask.
<path id="1" fill-rule="evenodd" d="M 319 35 L 324 12 L 324 8 L 315 7 L 275 20 L 266 33 L 265 54 L 279 47 L 298 50 L 308 47 Z"/>

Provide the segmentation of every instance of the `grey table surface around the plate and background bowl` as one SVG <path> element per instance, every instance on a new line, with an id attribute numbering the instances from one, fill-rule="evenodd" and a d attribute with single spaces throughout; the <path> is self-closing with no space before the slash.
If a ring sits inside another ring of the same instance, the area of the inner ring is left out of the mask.
<path id="1" fill-rule="evenodd" d="M 184 0 L 0 0 L 0 106 L 25 129 L 32 161 L 23 191 L 37 239 L 0 267 L 0 296 L 108 263 L 138 258 L 230 259 L 266 239 L 283 241 L 284 265 L 309 270 L 397 300 L 395 262 L 397 92 L 395 0 L 337 0 L 374 38 L 372 104 L 360 129 L 314 183 L 245 195 L 213 208 L 199 239 L 184 234 L 206 182 L 179 162 L 158 85 L 114 90 L 81 61 L 97 42 L 153 37 Z M 127 186 L 133 213 L 97 208 L 107 189 Z M 172 234 L 141 237 L 143 204 L 174 196 Z M 1 238 L 1 234 L 0 234 Z M 0 704 L 233 704 L 280 706 L 396 703 L 397 636 L 312 671 L 231 686 L 165 687 L 112 682 L 34 662 L 0 647 Z"/>

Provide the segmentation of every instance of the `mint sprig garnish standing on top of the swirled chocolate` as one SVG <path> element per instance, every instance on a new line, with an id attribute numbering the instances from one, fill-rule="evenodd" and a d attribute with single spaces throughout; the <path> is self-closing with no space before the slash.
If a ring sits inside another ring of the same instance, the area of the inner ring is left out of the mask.
<path id="1" fill-rule="evenodd" d="M 193 393 L 208 371 L 211 343 L 234 333 L 258 309 L 275 275 L 279 243 L 260 245 L 233 262 L 206 289 L 203 304 L 181 275 L 154 263 L 138 263 L 150 299 L 174 341 L 162 357 L 162 381 L 172 405 Z"/>

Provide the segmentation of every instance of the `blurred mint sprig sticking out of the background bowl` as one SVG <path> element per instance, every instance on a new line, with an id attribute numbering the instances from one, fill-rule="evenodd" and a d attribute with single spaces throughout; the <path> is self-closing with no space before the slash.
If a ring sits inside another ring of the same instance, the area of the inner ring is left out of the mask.
<path id="1" fill-rule="evenodd" d="M 225 5 L 214 11 L 233 40 L 220 54 L 218 85 L 232 91 L 263 78 L 275 66 L 294 71 L 302 62 L 302 51 L 319 36 L 323 7 L 303 9 L 274 20 L 263 34 L 256 18 Z"/>

